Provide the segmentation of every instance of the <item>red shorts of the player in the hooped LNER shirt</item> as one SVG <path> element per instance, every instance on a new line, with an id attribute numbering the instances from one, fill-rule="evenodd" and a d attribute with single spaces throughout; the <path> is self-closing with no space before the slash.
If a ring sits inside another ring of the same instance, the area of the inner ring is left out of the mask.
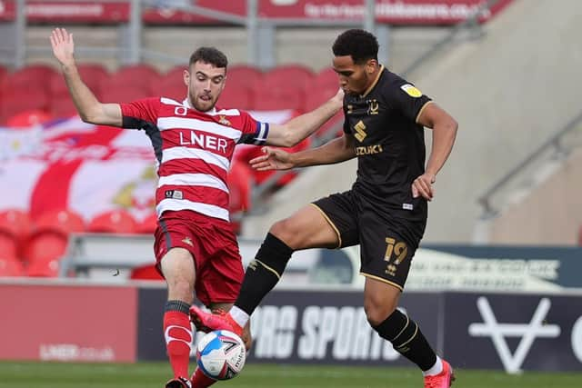
<path id="1" fill-rule="evenodd" d="M 210 303 L 234 303 L 245 271 L 230 223 L 189 210 L 166 211 L 156 229 L 156 268 L 171 248 L 185 248 L 194 257 L 196 297 Z"/>

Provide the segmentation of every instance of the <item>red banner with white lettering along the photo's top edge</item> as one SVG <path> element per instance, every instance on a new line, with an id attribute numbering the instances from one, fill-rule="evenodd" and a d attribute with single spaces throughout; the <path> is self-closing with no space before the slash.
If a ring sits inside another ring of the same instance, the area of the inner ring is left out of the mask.
<path id="1" fill-rule="evenodd" d="M 481 15 L 485 22 L 512 0 L 499 0 L 490 11 Z M 451 25 L 473 15 L 484 0 L 376 0 L 376 21 L 397 25 Z M 159 1 L 159 7 L 146 9 L 143 18 L 150 24 L 224 24 L 224 22 L 170 6 Z M 232 15 L 246 15 L 245 1 L 196 0 L 193 5 Z M 167 6 L 165 6 L 167 5 Z M 13 20 L 14 0 L 0 0 L 0 20 Z M 328 20 L 362 20 L 365 0 L 259 0 L 259 17 Z M 29 0 L 28 21 L 119 23 L 129 20 L 128 2 L 59 2 Z"/>

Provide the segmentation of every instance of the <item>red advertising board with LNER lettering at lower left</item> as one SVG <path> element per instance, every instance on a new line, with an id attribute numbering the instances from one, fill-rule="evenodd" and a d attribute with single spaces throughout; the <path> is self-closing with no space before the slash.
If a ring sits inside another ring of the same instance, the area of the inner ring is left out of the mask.
<path id="1" fill-rule="evenodd" d="M 135 288 L 0 284 L 0 294 L 0 359 L 135 362 Z"/>

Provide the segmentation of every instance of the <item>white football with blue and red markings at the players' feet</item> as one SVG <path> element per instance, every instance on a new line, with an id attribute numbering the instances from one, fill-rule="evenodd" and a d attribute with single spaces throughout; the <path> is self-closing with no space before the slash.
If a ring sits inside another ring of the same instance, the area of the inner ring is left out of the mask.
<path id="1" fill-rule="evenodd" d="M 196 346 L 196 363 L 208 377 L 229 380 L 245 366 L 246 348 L 235 333 L 216 330 L 207 333 Z"/>

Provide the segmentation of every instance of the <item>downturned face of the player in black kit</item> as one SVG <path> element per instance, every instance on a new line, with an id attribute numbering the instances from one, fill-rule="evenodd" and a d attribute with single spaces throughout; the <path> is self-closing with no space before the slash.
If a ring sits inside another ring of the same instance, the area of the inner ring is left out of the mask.
<path id="1" fill-rule="evenodd" d="M 339 85 L 346 95 L 363 95 L 374 82 L 376 61 L 371 59 L 365 64 L 354 63 L 351 55 L 334 57 L 334 70 L 339 76 Z"/>

